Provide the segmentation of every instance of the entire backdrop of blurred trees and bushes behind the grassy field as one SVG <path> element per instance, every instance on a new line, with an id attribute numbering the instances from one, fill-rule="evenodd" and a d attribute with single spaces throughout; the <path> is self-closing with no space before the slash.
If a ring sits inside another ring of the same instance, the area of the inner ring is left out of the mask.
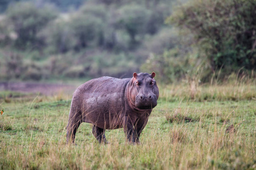
<path id="1" fill-rule="evenodd" d="M 166 83 L 255 76 L 255 0 L 1 3 L 2 80 L 134 71 L 156 71 Z"/>

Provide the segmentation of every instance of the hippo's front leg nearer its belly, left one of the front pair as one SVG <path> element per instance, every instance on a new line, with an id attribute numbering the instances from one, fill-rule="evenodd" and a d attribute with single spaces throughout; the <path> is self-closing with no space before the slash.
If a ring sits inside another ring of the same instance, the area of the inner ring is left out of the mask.
<path id="1" fill-rule="evenodd" d="M 130 116 L 125 116 L 123 118 L 123 130 L 125 131 L 126 139 L 130 143 L 134 143 L 134 128 L 133 128 L 133 118 Z"/>

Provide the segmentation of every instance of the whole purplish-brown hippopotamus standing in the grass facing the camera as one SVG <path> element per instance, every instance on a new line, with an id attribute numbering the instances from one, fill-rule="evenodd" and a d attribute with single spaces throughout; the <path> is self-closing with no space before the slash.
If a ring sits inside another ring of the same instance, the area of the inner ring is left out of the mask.
<path id="1" fill-rule="evenodd" d="M 73 93 L 67 125 L 67 143 L 75 143 L 82 122 L 93 125 L 92 133 L 99 143 L 108 143 L 106 129 L 123 128 L 126 141 L 139 143 L 159 97 L 155 73 L 134 73 L 132 78 L 103 76 L 89 80 Z"/>

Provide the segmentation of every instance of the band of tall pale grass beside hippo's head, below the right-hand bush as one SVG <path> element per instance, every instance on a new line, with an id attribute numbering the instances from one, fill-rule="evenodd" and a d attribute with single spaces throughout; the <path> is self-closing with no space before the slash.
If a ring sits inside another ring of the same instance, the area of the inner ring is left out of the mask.
<path id="1" fill-rule="evenodd" d="M 160 86 L 160 96 L 166 100 L 256 100 L 256 80 L 235 78 L 227 82 L 200 84 L 193 81 L 184 81 L 180 84 Z M 162 89 L 162 91 L 161 91 Z"/>

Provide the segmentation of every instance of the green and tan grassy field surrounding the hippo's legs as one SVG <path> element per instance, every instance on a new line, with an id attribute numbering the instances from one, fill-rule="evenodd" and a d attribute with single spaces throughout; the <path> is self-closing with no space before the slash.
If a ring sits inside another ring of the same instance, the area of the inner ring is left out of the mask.
<path id="1" fill-rule="evenodd" d="M 255 82 L 192 89 L 160 87 L 135 146 L 123 129 L 99 145 L 85 123 L 65 145 L 71 95 L 0 92 L 0 169 L 256 169 Z"/>

